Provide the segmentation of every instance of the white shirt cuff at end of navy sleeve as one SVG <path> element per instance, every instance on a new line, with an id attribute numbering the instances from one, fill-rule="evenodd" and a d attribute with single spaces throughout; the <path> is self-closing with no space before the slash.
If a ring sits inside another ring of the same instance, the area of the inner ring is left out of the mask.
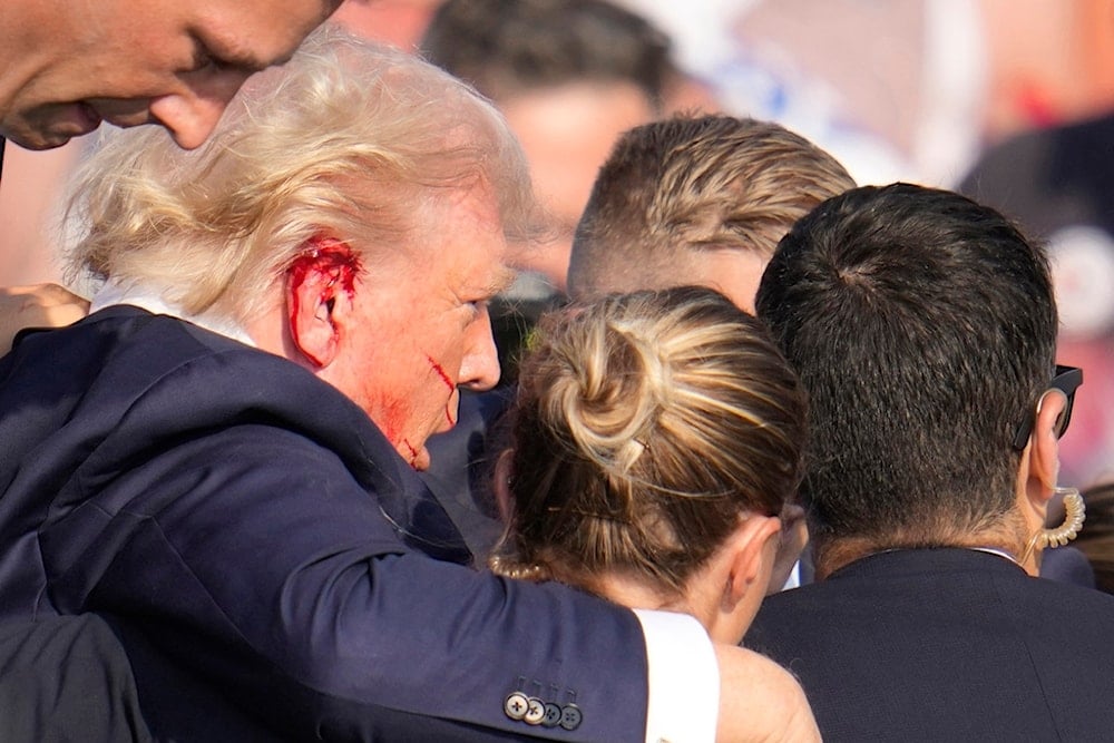
<path id="1" fill-rule="evenodd" d="M 720 713 L 720 666 L 707 632 L 687 614 L 634 613 L 646 638 L 646 743 L 713 743 Z"/>

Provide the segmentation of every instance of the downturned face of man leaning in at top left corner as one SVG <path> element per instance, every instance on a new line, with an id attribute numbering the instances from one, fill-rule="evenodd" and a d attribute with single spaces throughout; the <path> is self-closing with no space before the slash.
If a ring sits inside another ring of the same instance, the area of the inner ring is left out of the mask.
<path id="1" fill-rule="evenodd" d="M 338 2 L 43 2 L 17 50 L 0 50 L 0 131 L 45 149 L 101 121 L 160 124 L 196 147 L 244 80 L 287 59 Z"/>

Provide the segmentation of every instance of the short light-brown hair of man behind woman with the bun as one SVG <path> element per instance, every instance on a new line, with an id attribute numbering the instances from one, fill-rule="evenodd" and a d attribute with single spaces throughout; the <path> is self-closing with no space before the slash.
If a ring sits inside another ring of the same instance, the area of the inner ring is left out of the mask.
<path id="1" fill-rule="evenodd" d="M 771 121 L 678 116 L 636 127 L 600 168 L 577 225 L 569 294 L 686 283 L 686 264 L 713 251 L 766 258 L 797 219 L 853 187 L 834 158 Z"/>

